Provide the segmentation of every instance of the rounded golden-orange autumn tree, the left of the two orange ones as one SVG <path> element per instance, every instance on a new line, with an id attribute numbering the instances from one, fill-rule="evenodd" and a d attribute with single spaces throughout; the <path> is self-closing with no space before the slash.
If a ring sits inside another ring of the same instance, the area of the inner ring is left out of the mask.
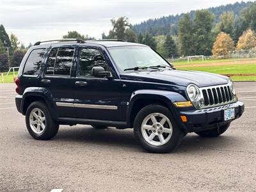
<path id="1" fill-rule="evenodd" d="M 216 41 L 213 44 L 212 55 L 215 57 L 224 56 L 224 58 L 226 58 L 228 55 L 228 51 L 233 51 L 234 49 L 234 41 L 232 40 L 230 35 L 224 32 L 220 32 L 216 38 Z"/>

